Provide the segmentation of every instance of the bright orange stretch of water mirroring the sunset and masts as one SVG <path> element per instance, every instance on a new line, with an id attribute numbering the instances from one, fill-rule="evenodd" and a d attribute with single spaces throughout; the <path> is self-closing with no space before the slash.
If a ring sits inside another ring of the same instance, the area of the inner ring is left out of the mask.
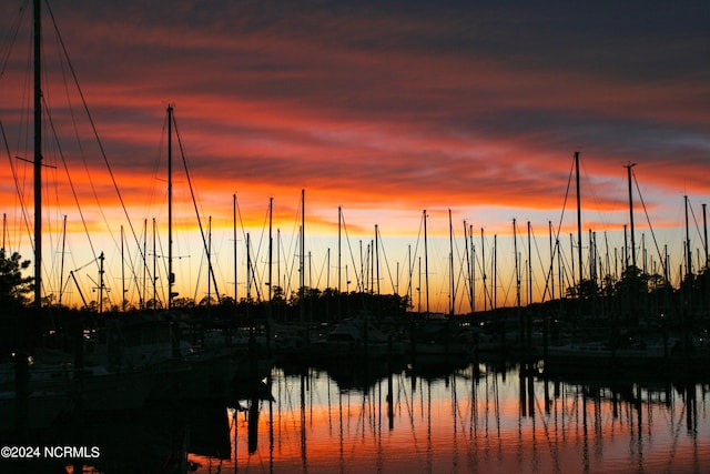
<path id="1" fill-rule="evenodd" d="M 190 465 L 199 473 L 710 472 L 701 441 L 710 440 L 707 384 L 550 381 L 478 363 L 378 379 L 349 370 L 274 369 L 271 401 L 227 410 L 231 458 L 190 454 Z"/>

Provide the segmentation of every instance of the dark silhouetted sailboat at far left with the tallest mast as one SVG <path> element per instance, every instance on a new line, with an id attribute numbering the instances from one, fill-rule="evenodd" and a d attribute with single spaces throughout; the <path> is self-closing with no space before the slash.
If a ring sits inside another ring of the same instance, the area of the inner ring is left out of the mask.
<path id="1" fill-rule="evenodd" d="M 41 1 L 33 1 L 33 53 L 34 53 L 34 301 L 39 312 L 42 307 L 42 63 L 41 63 Z M 169 110 L 169 112 L 171 109 Z M 172 269 L 171 269 L 172 274 Z M 172 280 L 172 278 L 171 278 Z M 103 284 L 101 284 L 103 288 Z M 172 297 L 172 284 L 171 284 Z M 143 326 L 143 321 L 133 321 L 133 327 Z M 168 327 L 161 324 L 163 327 Z M 172 332 L 153 331 L 151 341 L 142 337 L 139 343 L 131 340 L 125 326 L 106 331 L 74 331 L 75 353 L 62 354 L 61 361 L 44 360 L 45 354 L 33 351 L 32 357 L 22 342 L 18 344 L 14 361 L 0 366 L 0 413 L 14 413 L 4 421 L 17 418 L 11 424 L 18 430 L 41 427 L 36 423 L 37 413 L 49 424 L 62 412 L 79 407 L 83 411 L 124 411 L 142 407 L 155 386 L 164 386 L 179 374 L 191 370 L 186 364 L 166 364 L 175 355 L 186 353 L 185 344 L 174 344 Z M 168 329 L 169 331 L 171 327 Z M 20 327 L 19 333 L 24 333 Z M 164 341 L 168 341 L 165 352 Z M 47 357 L 49 359 L 49 357 Z M 55 403 L 54 403 L 55 402 Z M 41 410 L 40 410 L 41 407 Z M 55 407 L 55 410 L 53 410 Z M 52 413 L 48 411 L 52 409 Z M 4 427 L 4 426 L 0 426 Z"/>

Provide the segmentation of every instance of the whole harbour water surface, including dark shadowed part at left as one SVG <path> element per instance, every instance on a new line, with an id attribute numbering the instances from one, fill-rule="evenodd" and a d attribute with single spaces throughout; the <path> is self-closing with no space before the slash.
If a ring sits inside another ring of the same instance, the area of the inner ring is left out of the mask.
<path id="1" fill-rule="evenodd" d="M 504 361 L 384 365 L 277 366 L 227 403 L 65 420 L 31 443 L 95 445 L 99 458 L 2 472 L 710 471 L 707 383 L 548 380 Z"/>

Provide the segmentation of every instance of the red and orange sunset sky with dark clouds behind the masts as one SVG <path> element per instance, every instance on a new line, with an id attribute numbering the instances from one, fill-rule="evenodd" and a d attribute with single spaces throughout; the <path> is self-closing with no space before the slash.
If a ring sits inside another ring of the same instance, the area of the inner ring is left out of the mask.
<path id="1" fill-rule="evenodd" d="M 133 268 L 141 268 L 136 259 L 145 220 L 148 245 L 155 219 L 163 241 L 155 253 L 166 254 L 169 103 L 175 107 L 205 231 L 212 216 L 211 250 L 223 294 L 234 294 L 235 193 L 237 248 L 245 246 L 248 232 L 262 286 L 267 281 L 270 198 L 274 238 L 278 229 L 283 240 L 281 281 L 291 272 L 292 283 L 284 286 L 297 285 L 293 261 L 302 189 L 312 286 L 325 288 L 329 280 L 337 288 L 342 206 L 348 239 L 342 242 L 343 290 L 346 264 L 349 290 L 355 289 L 359 242 L 366 254 L 377 225 L 382 292 L 398 284 L 406 293 L 409 255 L 413 262 L 424 255 L 426 210 L 432 310 L 446 311 L 450 209 L 462 292 L 457 305 L 466 301 L 459 270 L 464 220 L 475 230 L 477 259 L 484 250 L 487 269 L 494 235 L 499 236 L 501 275 L 510 274 L 513 265 L 513 219 L 525 234 L 518 241 L 523 260 L 529 221 L 538 241 L 531 252 L 538 294 L 549 261 L 548 222 L 556 230 L 561 223 L 565 255 L 570 255 L 568 234 L 576 240 L 574 174 L 569 182 L 575 151 L 581 157 L 582 239 L 589 230 L 597 232 L 598 246 L 606 245 L 601 253 L 623 246 L 623 225 L 629 224 L 623 165 L 637 163 L 639 261 L 641 233 L 649 260 L 657 255 L 650 221 L 661 252 L 668 245 L 673 274 L 679 272 L 684 195 L 691 205 L 691 246 L 704 252 L 701 205 L 710 200 L 707 1 L 54 0 L 50 8 L 71 63 L 59 61 L 61 46 L 45 8 L 43 94 L 51 121 L 44 120 L 43 155 L 45 164 L 57 167 L 43 171 L 45 294 L 59 292 L 64 215 L 64 286 L 70 270 L 103 251 L 110 297 L 120 301 L 121 225 Z M 3 242 L 31 259 L 32 167 L 16 159 L 32 157 L 31 2 L 6 2 L 0 28 Z M 173 158 L 178 291 L 201 299 L 207 291 L 204 252 L 176 142 Z M 587 252 L 588 242 L 582 245 Z M 328 249 L 329 276 L 323 270 Z M 243 297 L 245 250 L 237 252 Z M 135 272 L 131 279 L 143 278 L 142 270 Z M 77 275 L 90 292 L 95 264 Z M 510 281 L 499 276 L 498 304 L 513 303 Z M 65 291 L 79 304 L 75 289 Z M 135 282 L 126 283 L 129 299 L 136 292 Z M 465 304 L 460 311 L 467 311 Z"/>

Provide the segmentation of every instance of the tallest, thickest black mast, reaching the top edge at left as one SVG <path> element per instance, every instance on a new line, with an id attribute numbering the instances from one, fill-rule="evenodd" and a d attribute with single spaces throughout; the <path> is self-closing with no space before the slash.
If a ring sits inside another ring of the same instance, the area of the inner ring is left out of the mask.
<path id="1" fill-rule="evenodd" d="M 34 306 L 42 305 L 42 16 L 33 2 L 34 23 Z"/>

